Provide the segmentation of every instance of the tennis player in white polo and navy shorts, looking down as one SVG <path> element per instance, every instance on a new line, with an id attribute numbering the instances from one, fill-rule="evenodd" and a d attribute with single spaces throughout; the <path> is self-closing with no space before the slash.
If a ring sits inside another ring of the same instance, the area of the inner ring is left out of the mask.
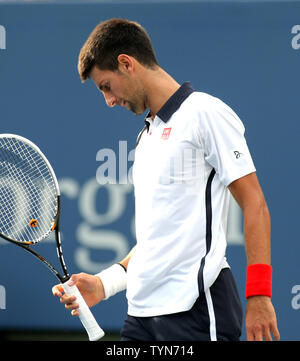
<path id="1" fill-rule="evenodd" d="M 71 284 L 89 306 L 127 289 L 124 341 L 239 340 L 242 307 L 225 255 L 231 193 L 244 215 L 247 339 L 279 340 L 270 215 L 237 114 L 174 80 L 136 22 L 100 23 L 78 69 L 109 107 L 148 115 L 133 166 L 137 244 L 120 263 L 75 274 Z M 74 296 L 59 285 L 52 292 L 78 315 Z"/>

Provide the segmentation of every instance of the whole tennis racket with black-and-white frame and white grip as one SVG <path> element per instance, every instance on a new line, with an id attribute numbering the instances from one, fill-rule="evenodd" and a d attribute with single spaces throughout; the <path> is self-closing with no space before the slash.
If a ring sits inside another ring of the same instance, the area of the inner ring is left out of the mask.
<path id="1" fill-rule="evenodd" d="M 70 275 L 63 258 L 60 231 L 60 192 L 55 173 L 40 149 L 28 139 L 0 134 L 0 236 L 33 254 L 75 295 L 79 318 L 90 341 L 104 336 L 78 288 L 69 286 Z M 55 232 L 57 256 L 63 275 L 30 248 Z"/>

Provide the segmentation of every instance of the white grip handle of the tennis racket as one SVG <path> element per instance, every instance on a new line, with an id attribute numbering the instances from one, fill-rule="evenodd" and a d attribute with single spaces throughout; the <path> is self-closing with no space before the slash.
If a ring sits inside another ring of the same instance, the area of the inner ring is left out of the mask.
<path id="1" fill-rule="evenodd" d="M 65 290 L 65 293 L 70 296 L 76 297 L 76 303 L 79 304 L 79 318 L 81 323 L 83 324 L 86 332 L 89 336 L 90 341 L 97 341 L 101 337 L 104 336 L 104 331 L 98 325 L 97 321 L 95 320 L 91 310 L 89 309 L 88 305 L 86 304 L 84 298 L 82 297 L 79 289 L 76 285 L 69 286 L 68 281 L 63 283 L 62 286 Z"/>

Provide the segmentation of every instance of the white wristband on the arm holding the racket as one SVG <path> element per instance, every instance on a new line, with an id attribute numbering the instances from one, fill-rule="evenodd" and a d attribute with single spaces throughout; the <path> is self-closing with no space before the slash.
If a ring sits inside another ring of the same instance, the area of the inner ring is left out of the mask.
<path id="1" fill-rule="evenodd" d="M 123 266 L 116 263 L 105 270 L 97 273 L 95 276 L 102 281 L 105 293 L 105 300 L 121 292 L 127 287 L 127 273 Z"/>

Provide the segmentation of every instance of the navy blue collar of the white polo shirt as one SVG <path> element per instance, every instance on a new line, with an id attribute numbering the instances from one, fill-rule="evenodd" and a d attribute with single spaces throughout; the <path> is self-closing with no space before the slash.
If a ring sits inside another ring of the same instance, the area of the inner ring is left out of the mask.
<path id="1" fill-rule="evenodd" d="M 171 118 L 171 116 L 178 110 L 180 105 L 185 99 L 194 92 L 193 86 L 190 82 L 185 82 L 181 87 L 166 101 L 162 108 L 157 112 L 157 116 L 165 123 Z M 146 119 L 151 117 L 149 112 Z M 149 127 L 149 121 L 145 119 L 147 128 Z"/>

